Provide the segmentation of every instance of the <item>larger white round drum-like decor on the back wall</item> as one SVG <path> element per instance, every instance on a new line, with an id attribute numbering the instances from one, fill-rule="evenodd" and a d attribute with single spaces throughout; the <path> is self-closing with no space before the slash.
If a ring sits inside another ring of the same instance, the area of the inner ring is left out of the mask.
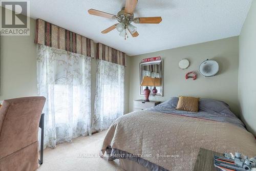
<path id="1" fill-rule="evenodd" d="M 205 77 L 211 77 L 218 73 L 219 64 L 215 60 L 205 60 L 199 66 L 199 72 Z"/>

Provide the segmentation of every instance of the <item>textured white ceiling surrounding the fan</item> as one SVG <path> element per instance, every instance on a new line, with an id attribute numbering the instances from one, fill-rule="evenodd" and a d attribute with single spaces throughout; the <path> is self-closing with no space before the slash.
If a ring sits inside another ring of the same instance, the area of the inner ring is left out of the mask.
<path id="1" fill-rule="evenodd" d="M 135 16 L 161 16 L 160 24 L 134 24 L 139 36 L 124 40 L 117 30 L 100 32 L 116 20 L 88 10 L 117 14 L 125 0 L 30 0 L 31 17 L 102 42 L 128 55 L 198 44 L 240 34 L 252 0 L 138 0 Z"/>

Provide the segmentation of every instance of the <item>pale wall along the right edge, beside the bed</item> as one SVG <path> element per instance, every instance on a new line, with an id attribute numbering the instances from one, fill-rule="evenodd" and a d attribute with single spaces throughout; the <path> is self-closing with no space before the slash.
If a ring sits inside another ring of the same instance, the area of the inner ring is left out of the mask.
<path id="1" fill-rule="evenodd" d="M 247 129 L 256 135 L 256 1 L 239 37 L 239 105 Z"/>

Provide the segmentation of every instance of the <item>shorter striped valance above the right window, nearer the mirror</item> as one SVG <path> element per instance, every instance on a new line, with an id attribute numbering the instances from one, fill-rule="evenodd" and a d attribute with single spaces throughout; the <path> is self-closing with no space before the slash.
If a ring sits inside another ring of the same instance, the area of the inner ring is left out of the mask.
<path id="1" fill-rule="evenodd" d="M 126 54 L 101 43 L 97 44 L 96 58 L 126 66 Z"/>

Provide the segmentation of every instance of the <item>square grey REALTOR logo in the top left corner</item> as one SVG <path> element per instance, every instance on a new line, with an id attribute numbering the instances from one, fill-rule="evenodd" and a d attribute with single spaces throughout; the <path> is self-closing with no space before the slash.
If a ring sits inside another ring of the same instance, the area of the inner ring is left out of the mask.
<path id="1" fill-rule="evenodd" d="M 1 1 L 1 36 L 30 35 L 30 2 Z"/>

